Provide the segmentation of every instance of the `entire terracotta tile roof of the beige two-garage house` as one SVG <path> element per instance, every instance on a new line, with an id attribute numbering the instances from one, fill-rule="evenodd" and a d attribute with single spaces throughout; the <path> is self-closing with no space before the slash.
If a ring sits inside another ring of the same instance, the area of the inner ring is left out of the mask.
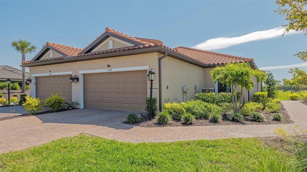
<path id="1" fill-rule="evenodd" d="M 110 37 L 110 35 L 122 37 L 123 39 L 136 43 L 137 45 L 124 47 L 124 48 L 116 48 L 116 49 L 98 51 L 98 52 L 90 52 L 92 49 L 94 49 L 94 47 L 97 47 L 99 44 L 101 44 L 103 40 L 106 40 L 107 37 Z M 47 42 L 47 44 L 50 47 L 62 52 L 63 54 L 66 54 L 67 56 L 74 56 L 76 58 L 84 57 L 84 56 L 91 56 L 91 55 L 114 53 L 114 52 L 123 52 L 123 51 L 136 50 L 136 49 L 160 47 L 163 50 L 165 49 L 170 50 L 172 52 L 175 52 L 175 54 L 178 53 L 180 55 L 193 59 L 197 62 L 200 62 L 206 66 L 220 65 L 220 64 L 225 64 L 229 62 L 253 62 L 254 61 L 254 59 L 251 59 L 251 58 L 198 50 L 194 48 L 187 48 L 187 47 L 169 48 L 163 45 L 163 42 L 161 40 L 132 37 L 132 36 L 126 35 L 122 32 L 119 32 L 119 31 L 116 31 L 110 28 L 106 28 L 105 32 L 103 32 L 100 36 L 98 36 L 89 45 L 87 45 L 87 47 L 83 49 L 68 47 L 65 45 L 49 43 L 49 42 Z M 71 57 L 69 58 L 71 59 Z M 65 59 L 65 57 L 50 58 L 50 59 L 43 59 L 43 60 L 33 59 L 31 61 L 24 61 L 22 62 L 22 64 L 40 63 L 40 62 L 47 62 L 47 61 L 54 61 L 54 60 L 61 60 L 61 59 Z"/>

